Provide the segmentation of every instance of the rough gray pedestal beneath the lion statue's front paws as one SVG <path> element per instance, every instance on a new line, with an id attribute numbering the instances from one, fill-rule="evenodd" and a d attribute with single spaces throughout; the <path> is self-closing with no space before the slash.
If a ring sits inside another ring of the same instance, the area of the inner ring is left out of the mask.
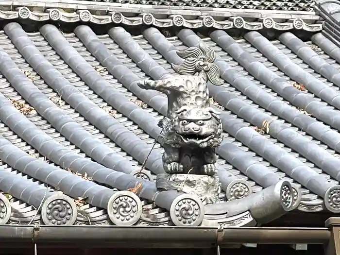
<path id="1" fill-rule="evenodd" d="M 177 190 L 178 192 L 196 195 L 202 200 L 203 204 L 220 202 L 221 187 L 217 176 L 161 173 L 157 174 L 156 187 L 161 190 Z"/>

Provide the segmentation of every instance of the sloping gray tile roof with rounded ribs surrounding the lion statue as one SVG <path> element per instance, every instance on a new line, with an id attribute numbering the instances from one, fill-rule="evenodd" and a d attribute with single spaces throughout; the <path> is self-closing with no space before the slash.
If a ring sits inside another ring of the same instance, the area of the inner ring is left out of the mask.
<path id="1" fill-rule="evenodd" d="M 216 51 L 225 81 L 209 88 L 225 131 L 216 152 L 221 200 L 233 210 L 226 225 L 260 222 L 252 201 L 266 194 L 258 206 L 274 210 L 282 181 L 292 184 L 299 210 L 340 211 L 339 48 L 322 33 L 302 41 L 289 32 L 276 40 L 255 31 L 129 32 L 4 26 L 0 224 L 171 224 L 185 195 L 156 192 L 153 182 L 163 172 L 156 139 L 167 101 L 136 81 L 176 75 L 176 50 L 200 41 Z"/>

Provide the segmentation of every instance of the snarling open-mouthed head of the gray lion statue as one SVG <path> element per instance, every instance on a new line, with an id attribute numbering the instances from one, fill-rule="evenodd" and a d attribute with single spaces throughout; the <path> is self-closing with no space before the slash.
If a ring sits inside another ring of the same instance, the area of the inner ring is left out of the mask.
<path id="1" fill-rule="evenodd" d="M 173 147 L 217 147 L 223 139 L 219 114 L 212 107 L 183 106 L 174 119 L 163 119 L 160 139 Z"/>

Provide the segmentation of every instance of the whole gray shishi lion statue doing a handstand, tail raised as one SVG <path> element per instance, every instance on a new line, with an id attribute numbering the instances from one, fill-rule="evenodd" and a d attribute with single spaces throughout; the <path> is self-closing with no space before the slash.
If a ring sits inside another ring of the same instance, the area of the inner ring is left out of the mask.
<path id="1" fill-rule="evenodd" d="M 180 74 L 166 80 L 143 80 L 144 89 L 163 92 L 168 97 L 168 117 L 159 122 L 164 142 L 163 166 L 167 173 L 214 175 L 217 173 L 215 148 L 223 139 L 220 112 L 209 105 L 206 82 L 221 85 L 220 71 L 213 64 L 215 52 L 199 44 L 177 51 L 184 58 L 172 68 Z"/>

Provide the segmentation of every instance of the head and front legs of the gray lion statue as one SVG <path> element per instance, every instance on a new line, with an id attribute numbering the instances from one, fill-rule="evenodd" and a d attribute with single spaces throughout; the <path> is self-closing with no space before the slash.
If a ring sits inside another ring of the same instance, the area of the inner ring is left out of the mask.
<path id="1" fill-rule="evenodd" d="M 163 141 L 163 165 L 167 173 L 214 175 L 215 148 L 223 139 L 219 113 L 211 108 L 182 107 L 174 119 L 164 118 L 159 141 Z"/>

